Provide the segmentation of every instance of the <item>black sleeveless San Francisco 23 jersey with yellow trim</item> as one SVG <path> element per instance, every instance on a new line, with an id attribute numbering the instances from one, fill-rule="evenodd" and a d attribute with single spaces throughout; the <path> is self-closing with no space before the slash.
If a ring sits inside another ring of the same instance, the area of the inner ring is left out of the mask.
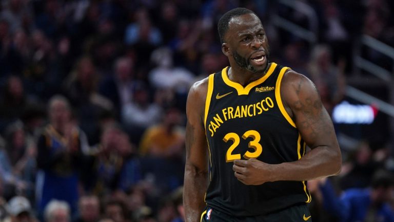
<path id="1" fill-rule="evenodd" d="M 281 100 L 281 80 L 287 69 L 271 63 L 266 75 L 246 87 L 229 80 L 228 67 L 209 76 L 204 121 L 210 184 L 205 201 L 214 209 L 255 216 L 310 202 L 306 181 L 247 186 L 232 170 L 234 159 L 278 164 L 305 154 L 305 142 Z"/>

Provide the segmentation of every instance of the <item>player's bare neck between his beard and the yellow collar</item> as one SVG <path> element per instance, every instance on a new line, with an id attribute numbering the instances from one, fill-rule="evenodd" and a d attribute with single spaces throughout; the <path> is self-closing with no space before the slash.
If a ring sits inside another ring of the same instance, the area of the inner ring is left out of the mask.
<path id="1" fill-rule="evenodd" d="M 267 65 L 264 72 L 251 72 L 237 66 L 230 66 L 227 70 L 227 76 L 232 82 L 237 82 L 245 87 L 249 83 L 265 76 L 270 65 Z"/>

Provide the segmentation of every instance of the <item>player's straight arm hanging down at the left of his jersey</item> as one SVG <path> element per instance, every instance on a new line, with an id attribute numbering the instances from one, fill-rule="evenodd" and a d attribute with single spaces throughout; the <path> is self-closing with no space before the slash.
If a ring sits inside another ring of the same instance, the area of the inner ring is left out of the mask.
<path id="1" fill-rule="evenodd" d="M 186 222 L 200 221 L 208 186 L 208 144 L 204 127 L 208 78 L 194 83 L 186 103 L 186 165 L 183 204 Z"/>

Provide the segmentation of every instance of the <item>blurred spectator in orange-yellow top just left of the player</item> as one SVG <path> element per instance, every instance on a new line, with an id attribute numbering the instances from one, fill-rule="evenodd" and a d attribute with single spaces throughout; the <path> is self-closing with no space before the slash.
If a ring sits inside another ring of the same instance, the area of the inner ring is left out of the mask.
<path id="1" fill-rule="evenodd" d="M 159 198 L 178 188 L 184 174 L 184 128 L 180 112 L 176 108 L 168 109 L 158 125 L 149 127 L 140 143 L 142 172 L 145 179 L 150 177 L 156 186 L 151 195 Z M 157 201 L 156 201 L 157 202 Z"/>

